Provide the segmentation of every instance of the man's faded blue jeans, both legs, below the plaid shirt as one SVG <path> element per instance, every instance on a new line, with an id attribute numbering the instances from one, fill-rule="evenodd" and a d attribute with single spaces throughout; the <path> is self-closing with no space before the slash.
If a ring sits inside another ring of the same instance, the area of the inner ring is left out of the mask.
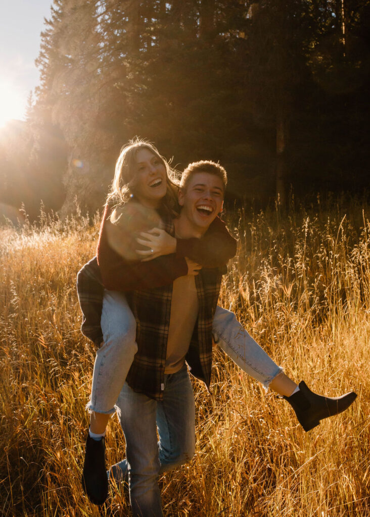
<path id="1" fill-rule="evenodd" d="M 124 384 L 117 405 L 126 439 L 126 460 L 114 465 L 128 473 L 134 517 L 162 517 L 158 476 L 191 460 L 195 452 L 195 405 L 186 365 L 165 375 L 163 400 L 155 401 Z M 157 432 L 159 442 L 157 442 Z"/>

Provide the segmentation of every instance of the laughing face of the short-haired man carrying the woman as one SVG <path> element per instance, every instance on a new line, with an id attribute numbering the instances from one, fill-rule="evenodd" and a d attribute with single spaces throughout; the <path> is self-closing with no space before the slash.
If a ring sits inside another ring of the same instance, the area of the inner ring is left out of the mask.
<path id="1" fill-rule="evenodd" d="M 186 190 L 179 191 L 181 217 L 198 233 L 208 230 L 222 210 L 224 186 L 221 178 L 208 172 L 196 172 L 190 177 Z"/>

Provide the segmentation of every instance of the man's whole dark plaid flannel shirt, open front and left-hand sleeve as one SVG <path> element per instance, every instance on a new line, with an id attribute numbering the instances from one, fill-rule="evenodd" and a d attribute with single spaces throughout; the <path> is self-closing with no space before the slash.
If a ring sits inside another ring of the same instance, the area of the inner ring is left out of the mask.
<path id="1" fill-rule="evenodd" d="M 172 219 L 164 230 L 174 234 Z M 201 269 L 195 277 L 199 313 L 186 355 L 191 373 L 211 382 L 212 322 L 217 306 L 223 268 Z M 138 352 L 127 374 L 128 385 L 137 392 L 156 400 L 162 399 L 166 365 L 167 339 L 171 313 L 172 283 L 162 287 L 141 289 L 130 296 L 130 306 L 137 323 Z M 104 287 L 96 257 L 85 264 L 77 276 L 77 290 L 83 313 L 81 331 L 98 346 L 102 341 L 100 315 Z"/>

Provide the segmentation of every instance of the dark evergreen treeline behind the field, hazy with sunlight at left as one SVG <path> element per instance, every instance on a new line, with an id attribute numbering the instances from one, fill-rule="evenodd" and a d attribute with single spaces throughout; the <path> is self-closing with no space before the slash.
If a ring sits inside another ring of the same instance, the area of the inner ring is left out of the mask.
<path id="1" fill-rule="evenodd" d="M 370 0 L 54 0 L 37 65 L 0 202 L 95 211 L 134 135 L 219 160 L 230 199 L 367 186 Z"/>

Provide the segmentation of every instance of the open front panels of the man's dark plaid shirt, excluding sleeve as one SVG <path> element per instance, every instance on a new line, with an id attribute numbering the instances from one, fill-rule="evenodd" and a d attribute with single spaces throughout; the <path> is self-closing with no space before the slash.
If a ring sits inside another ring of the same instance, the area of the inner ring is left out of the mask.
<path id="1" fill-rule="evenodd" d="M 172 219 L 165 222 L 164 230 L 174 235 Z M 199 313 L 186 362 L 191 373 L 204 381 L 207 387 L 211 382 L 212 322 L 224 269 L 201 269 L 195 277 Z M 171 283 L 163 287 L 134 291 L 131 300 L 131 309 L 137 323 L 138 352 L 126 381 L 134 391 L 145 393 L 156 400 L 162 399 L 164 390 L 172 286 Z"/>

